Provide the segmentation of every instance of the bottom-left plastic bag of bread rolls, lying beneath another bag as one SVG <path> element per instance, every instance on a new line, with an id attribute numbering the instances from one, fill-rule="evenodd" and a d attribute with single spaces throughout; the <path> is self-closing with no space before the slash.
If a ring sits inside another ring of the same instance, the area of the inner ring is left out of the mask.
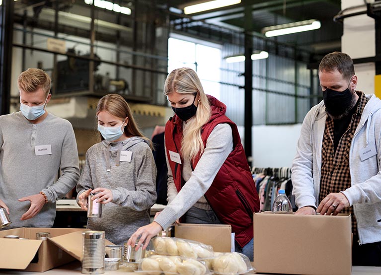
<path id="1" fill-rule="evenodd" d="M 139 264 L 138 273 L 148 275 L 210 275 L 203 262 L 179 256 L 154 255 Z"/>

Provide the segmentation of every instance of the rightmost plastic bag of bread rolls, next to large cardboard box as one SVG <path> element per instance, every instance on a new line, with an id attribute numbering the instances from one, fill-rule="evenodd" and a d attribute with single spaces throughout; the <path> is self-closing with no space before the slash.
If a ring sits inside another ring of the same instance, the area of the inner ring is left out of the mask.
<path id="1" fill-rule="evenodd" d="M 210 260 L 209 268 L 219 275 L 239 275 L 253 270 L 247 256 L 232 252 L 215 254 L 215 258 Z"/>

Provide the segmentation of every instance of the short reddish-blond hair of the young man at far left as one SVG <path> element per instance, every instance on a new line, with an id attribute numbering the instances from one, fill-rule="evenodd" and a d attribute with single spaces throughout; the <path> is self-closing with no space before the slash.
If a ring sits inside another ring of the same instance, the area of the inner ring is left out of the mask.
<path id="1" fill-rule="evenodd" d="M 47 96 L 50 92 L 52 79 L 42 69 L 29 68 L 18 76 L 17 86 L 19 90 L 32 93 L 42 88 Z"/>

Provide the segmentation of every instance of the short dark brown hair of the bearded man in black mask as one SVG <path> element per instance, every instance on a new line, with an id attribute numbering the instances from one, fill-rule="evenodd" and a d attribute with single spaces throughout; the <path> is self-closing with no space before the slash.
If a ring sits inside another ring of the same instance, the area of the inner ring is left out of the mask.
<path id="1" fill-rule="evenodd" d="M 334 71 L 337 69 L 345 79 L 350 79 L 355 75 L 353 60 L 347 54 L 333 52 L 327 54 L 320 62 L 319 71 Z"/>

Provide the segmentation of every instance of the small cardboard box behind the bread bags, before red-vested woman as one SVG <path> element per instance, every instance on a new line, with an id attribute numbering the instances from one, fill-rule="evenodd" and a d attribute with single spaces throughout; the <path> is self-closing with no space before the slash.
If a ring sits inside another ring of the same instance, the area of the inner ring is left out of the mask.
<path id="1" fill-rule="evenodd" d="M 230 252 L 232 247 L 229 224 L 179 223 L 175 225 L 175 237 L 211 245 L 217 252 Z"/>

